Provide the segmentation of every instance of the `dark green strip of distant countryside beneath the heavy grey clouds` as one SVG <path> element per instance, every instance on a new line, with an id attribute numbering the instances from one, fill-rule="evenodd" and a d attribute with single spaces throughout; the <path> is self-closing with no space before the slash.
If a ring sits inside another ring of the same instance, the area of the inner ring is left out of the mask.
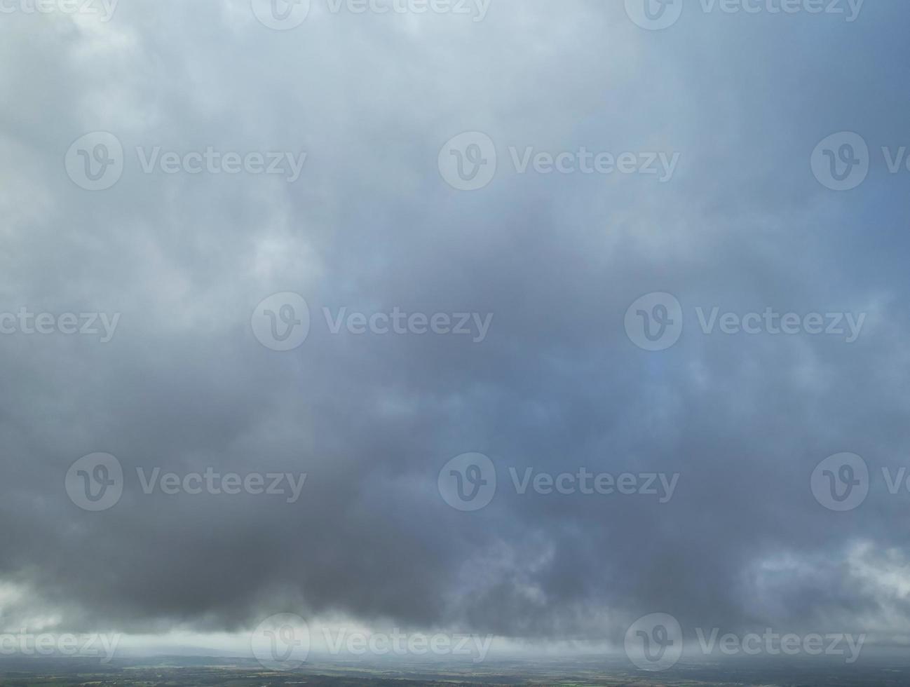
<path id="1" fill-rule="evenodd" d="M 308 663 L 298 671 L 266 671 L 248 659 L 160 657 L 144 661 L 7 658 L 0 661 L 4 687 L 458 687 L 459 685 L 552 685 L 595 687 L 663 685 L 697 687 L 762 685 L 763 687 L 872 687 L 910 683 L 908 662 L 882 661 L 844 668 L 843 664 L 733 661 L 703 665 L 680 664 L 671 671 L 637 671 L 619 659 L 602 657 L 552 662 L 486 662 L 480 666 L 448 666 L 420 662 Z"/>

